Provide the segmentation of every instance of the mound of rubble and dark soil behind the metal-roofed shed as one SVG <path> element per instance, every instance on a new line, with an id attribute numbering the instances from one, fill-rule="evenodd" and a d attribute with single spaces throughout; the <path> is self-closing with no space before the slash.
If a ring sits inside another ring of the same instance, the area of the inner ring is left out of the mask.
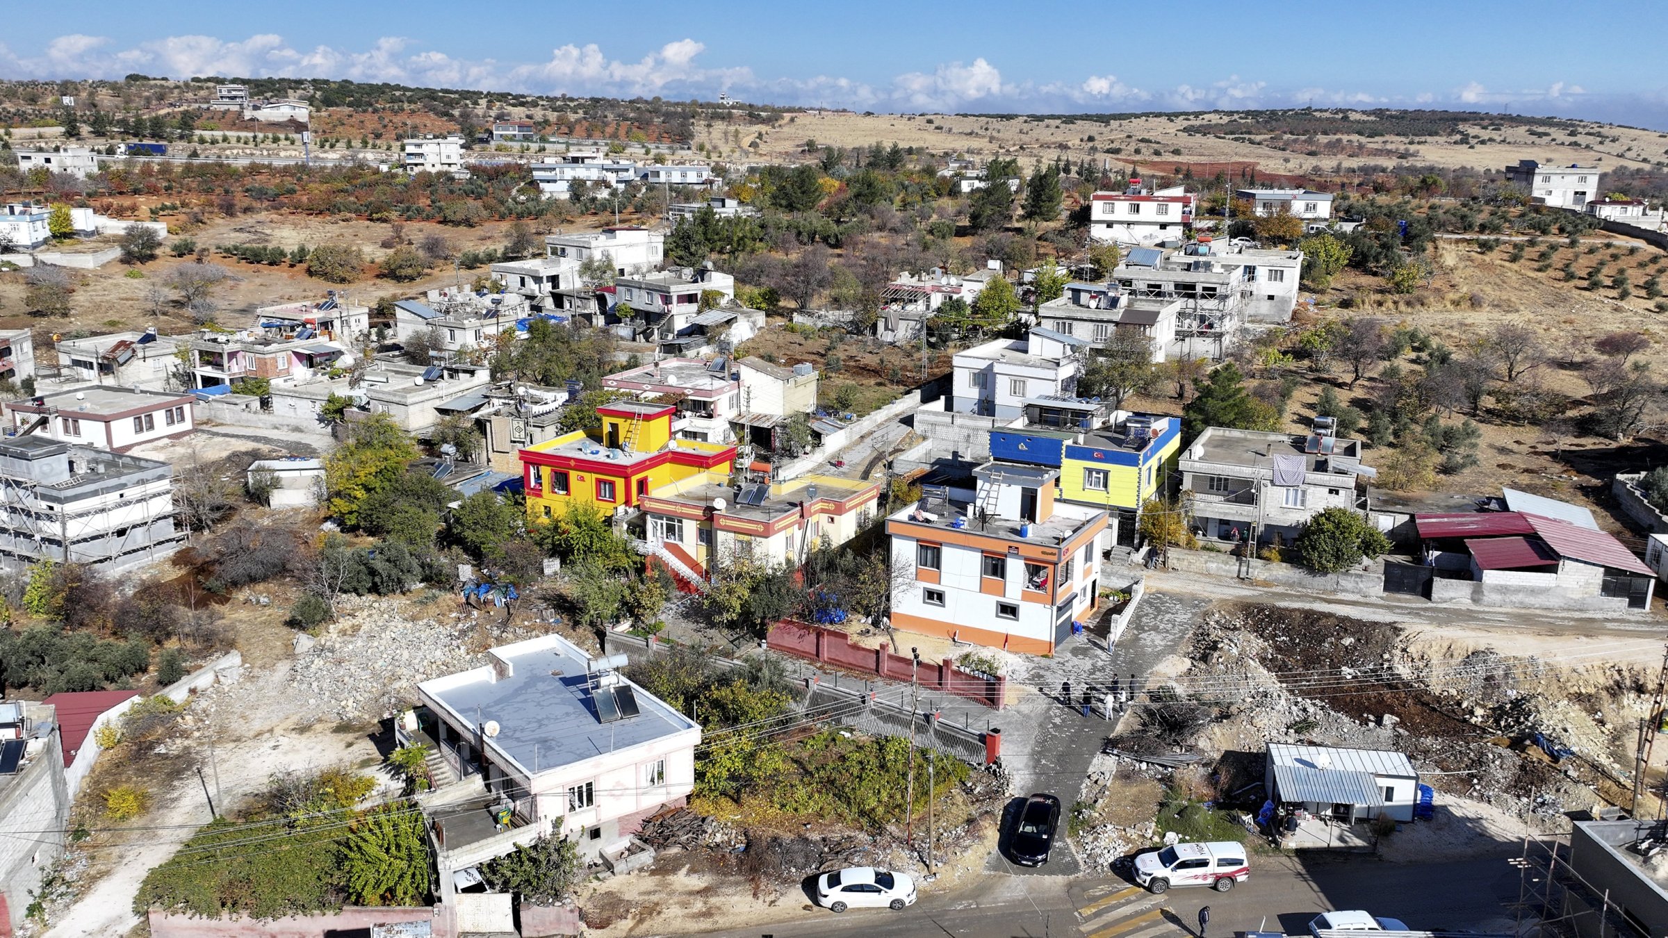
<path id="1" fill-rule="evenodd" d="M 1219 751 L 1269 741 L 1396 749 L 1439 793 L 1520 818 L 1590 808 L 1630 773 L 1605 716 L 1626 696 L 1621 673 L 1571 694 L 1533 659 L 1411 653 L 1389 624 L 1264 604 L 1213 608 L 1189 658 L 1189 681 L 1248 688 L 1216 701 L 1219 721 L 1203 736 Z"/>

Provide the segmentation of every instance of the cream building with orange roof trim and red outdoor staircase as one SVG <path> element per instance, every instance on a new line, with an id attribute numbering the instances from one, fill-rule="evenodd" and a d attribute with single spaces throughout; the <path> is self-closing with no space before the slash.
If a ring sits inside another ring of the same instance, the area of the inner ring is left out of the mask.
<path id="1" fill-rule="evenodd" d="M 691 588 L 711 577 L 714 559 L 797 567 L 812 547 L 851 541 L 874 516 L 879 496 L 879 482 L 836 476 L 772 482 L 764 462 L 749 466 L 739 484 L 707 471 L 642 499 L 644 549 Z"/>

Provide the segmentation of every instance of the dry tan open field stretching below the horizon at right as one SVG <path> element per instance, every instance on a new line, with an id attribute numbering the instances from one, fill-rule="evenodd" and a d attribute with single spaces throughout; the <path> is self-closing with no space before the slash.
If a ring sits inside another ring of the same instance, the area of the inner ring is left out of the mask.
<path id="1" fill-rule="evenodd" d="M 1363 164 L 1416 164 L 1436 167 L 1500 169 L 1521 159 L 1555 162 L 1595 162 L 1605 167 L 1646 165 L 1661 159 L 1668 140 L 1655 130 L 1611 125 L 1583 125 L 1585 130 L 1603 129 L 1606 140 L 1596 137 L 1533 137 L 1526 127 L 1493 124 L 1480 115 L 1475 125 L 1466 125 L 1473 139 L 1488 144 L 1461 144 L 1456 139 L 1404 139 L 1404 137 L 1323 137 L 1303 139 L 1249 139 L 1233 140 L 1211 135 L 1194 135 L 1183 130 L 1193 124 L 1221 124 L 1234 120 L 1229 112 L 1203 115 L 1146 115 L 1114 119 L 1109 124 L 1071 119 L 991 117 L 991 115 L 894 115 L 849 112 L 802 112 L 789 115 L 777 127 L 714 124 L 697 125 L 696 140 L 709 152 L 726 159 L 749 160 L 802 160 L 804 142 L 814 139 L 819 145 L 867 147 L 874 142 L 924 147 L 934 154 L 966 154 L 987 160 L 991 157 L 1021 157 L 1021 162 L 1053 160 L 1056 155 L 1109 160 L 1113 165 L 1136 165 L 1169 172 L 1184 164 L 1253 162 L 1258 177 L 1263 174 L 1304 174 L 1311 167 L 1358 167 Z M 1371 119 L 1361 115 L 1363 132 L 1371 130 Z M 1620 140 L 1608 140 L 1620 137 Z M 752 140 L 759 147 L 751 147 Z M 1143 142 L 1143 139 L 1146 142 Z M 1571 147 L 1568 142 L 1580 142 Z M 1294 147 L 1296 144 L 1296 147 Z M 1591 147 L 1588 147 L 1591 145 Z M 1121 147 L 1121 154 L 1108 152 Z M 1286 147 L 1286 149 L 1281 149 Z M 1139 150 L 1139 152 L 1136 152 Z M 1176 152 L 1179 150 L 1179 152 Z M 1314 155 L 1309 155 L 1309 154 Z M 1623 155 L 1626 154 L 1626 155 Z M 1324 172 L 1326 169 L 1319 170 Z M 1213 170 L 1214 172 L 1214 170 Z M 1201 175 L 1196 169 L 1194 175 Z M 1211 175 L 1211 174 L 1204 174 Z"/>

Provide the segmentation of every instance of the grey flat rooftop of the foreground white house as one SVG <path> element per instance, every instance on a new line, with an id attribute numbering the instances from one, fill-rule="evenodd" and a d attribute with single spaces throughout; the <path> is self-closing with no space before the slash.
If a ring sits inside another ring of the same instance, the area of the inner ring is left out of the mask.
<path id="1" fill-rule="evenodd" d="M 477 726 L 477 719 L 497 723 L 499 733 L 487 744 L 529 774 L 701 729 L 624 676 L 617 681 L 634 691 L 639 713 L 604 723 L 597 678 L 585 671 L 590 659 L 560 636 L 507 644 L 489 654 L 502 668 L 487 664 L 417 688 L 464 726 Z M 495 668 L 509 673 L 494 678 Z"/>

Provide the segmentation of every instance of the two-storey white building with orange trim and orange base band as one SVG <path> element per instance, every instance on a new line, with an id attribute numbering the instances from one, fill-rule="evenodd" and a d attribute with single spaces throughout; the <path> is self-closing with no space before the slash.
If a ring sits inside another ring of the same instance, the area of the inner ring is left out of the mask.
<path id="1" fill-rule="evenodd" d="M 971 502 L 929 489 L 886 519 L 892 628 L 956 641 L 1053 654 L 1071 624 L 1094 613 L 1108 512 L 1056 502 L 1059 471 L 986 462 Z"/>

